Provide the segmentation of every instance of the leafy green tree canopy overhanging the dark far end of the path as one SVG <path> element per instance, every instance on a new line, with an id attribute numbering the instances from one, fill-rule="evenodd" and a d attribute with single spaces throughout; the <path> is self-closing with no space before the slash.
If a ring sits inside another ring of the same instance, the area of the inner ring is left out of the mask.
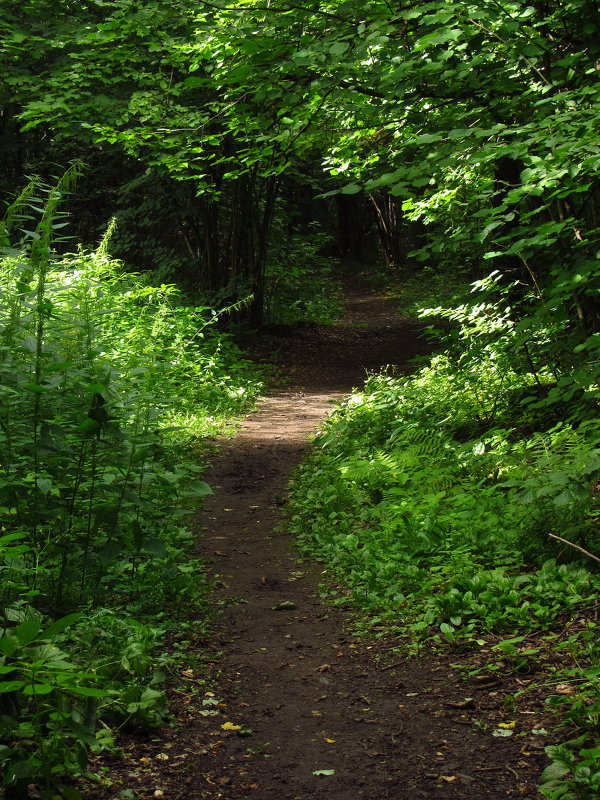
<path id="1" fill-rule="evenodd" d="M 7 188 L 84 157 L 131 259 L 250 286 L 257 318 L 273 222 L 333 233 L 311 197 L 341 192 L 339 249 L 370 206 L 389 264 L 496 266 L 595 348 L 599 25 L 589 0 L 27 0 L 0 12 Z"/>

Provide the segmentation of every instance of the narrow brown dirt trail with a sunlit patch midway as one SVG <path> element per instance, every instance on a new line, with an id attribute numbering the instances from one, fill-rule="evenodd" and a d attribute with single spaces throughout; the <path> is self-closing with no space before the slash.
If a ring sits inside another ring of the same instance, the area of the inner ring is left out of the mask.
<path id="1" fill-rule="evenodd" d="M 473 709 L 497 718 L 498 687 L 465 685 L 447 664 L 407 661 L 390 642 L 354 637 L 348 613 L 319 598 L 322 567 L 299 562 L 291 537 L 277 531 L 290 474 L 331 401 L 359 386 L 365 370 L 410 369 L 408 360 L 427 351 L 419 329 L 385 297 L 350 287 L 343 324 L 273 339 L 290 383 L 221 442 L 206 475 L 215 494 L 198 519 L 198 555 L 223 603 L 206 643 L 222 651 L 212 692 L 200 671 L 184 673 L 172 692 L 177 724 L 125 747 L 119 786 L 131 796 L 538 796 L 538 754 L 473 725 Z"/>

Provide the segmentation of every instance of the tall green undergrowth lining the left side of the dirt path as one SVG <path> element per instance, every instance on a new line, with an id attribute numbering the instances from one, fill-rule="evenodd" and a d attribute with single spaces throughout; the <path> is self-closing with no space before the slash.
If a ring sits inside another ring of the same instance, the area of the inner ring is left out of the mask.
<path id="1" fill-rule="evenodd" d="M 206 616 L 199 444 L 261 387 L 215 312 L 125 273 L 106 238 L 53 251 L 76 173 L 32 181 L 0 227 L 0 771 L 17 796 L 80 796 L 68 778 L 111 728 L 167 713 L 165 634 Z"/>

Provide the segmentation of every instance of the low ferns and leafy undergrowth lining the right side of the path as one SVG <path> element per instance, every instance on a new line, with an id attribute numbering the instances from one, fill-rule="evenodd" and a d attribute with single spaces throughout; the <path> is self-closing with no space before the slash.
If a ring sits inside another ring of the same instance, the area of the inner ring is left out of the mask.
<path id="1" fill-rule="evenodd" d="M 494 643 L 492 670 L 561 652 L 548 707 L 566 727 L 555 738 L 570 738 L 548 748 L 542 792 L 593 798 L 597 374 L 582 364 L 574 391 L 572 368 L 543 361 L 543 333 L 522 347 L 496 279 L 475 288 L 436 310 L 452 327 L 427 366 L 372 375 L 336 408 L 294 480 L 290 524 L 301 552 L 327 563 L 331 599 L 375 629 L 456 652 Z"/>

